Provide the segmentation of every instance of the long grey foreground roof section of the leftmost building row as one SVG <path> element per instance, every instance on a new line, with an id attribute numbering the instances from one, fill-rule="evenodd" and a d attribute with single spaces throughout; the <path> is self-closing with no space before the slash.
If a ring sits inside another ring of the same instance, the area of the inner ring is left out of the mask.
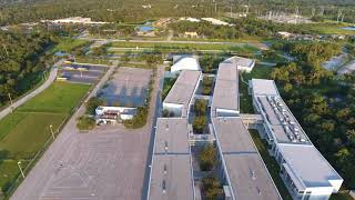
<path id="1" fill-rule="evenodd" d="M 150 200 L 193 200 L 194 187 L 189 132 L 185 118 L 156 121 Z"/>

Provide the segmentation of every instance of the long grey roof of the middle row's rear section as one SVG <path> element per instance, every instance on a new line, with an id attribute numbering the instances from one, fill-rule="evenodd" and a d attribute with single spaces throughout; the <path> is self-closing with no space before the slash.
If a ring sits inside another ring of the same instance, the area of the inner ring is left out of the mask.
<path id="1" fill-rule="evenodd" d="M 217 109 L 239 111 L 239 71 L 234 63 L 220 63 L 213 98 L 212 116 Z"/>

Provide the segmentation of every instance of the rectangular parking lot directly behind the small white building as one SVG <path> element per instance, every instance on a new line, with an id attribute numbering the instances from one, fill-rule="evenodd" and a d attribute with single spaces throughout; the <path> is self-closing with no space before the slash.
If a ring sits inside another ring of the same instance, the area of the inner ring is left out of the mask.
<path id="1" fill-rule="evenodd" d="M 108 84 L 100 90 L 99 97 L 109 106 L 139 107 L 144 104 L 152 70 L 121 67 Z"/>

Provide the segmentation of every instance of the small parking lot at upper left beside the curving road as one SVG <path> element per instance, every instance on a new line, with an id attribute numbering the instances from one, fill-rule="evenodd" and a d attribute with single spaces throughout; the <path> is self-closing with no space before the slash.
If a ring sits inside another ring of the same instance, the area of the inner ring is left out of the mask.
<path id="1" fill-rule="evenodd" d="M 95 83 L 106 71 L 104 66 L 64 64 L 60 67 L 59 78 L 69 82 Z"/>

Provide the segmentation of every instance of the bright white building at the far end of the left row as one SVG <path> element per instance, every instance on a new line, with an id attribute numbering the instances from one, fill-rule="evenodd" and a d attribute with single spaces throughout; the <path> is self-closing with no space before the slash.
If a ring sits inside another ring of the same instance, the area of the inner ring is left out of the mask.
<path id="1" fill-rule="evenodd" d="M 174 56 L 171 73 L 181 72 L 182 70 L 201 71 L 199 59 L 193 56 Z"/>

